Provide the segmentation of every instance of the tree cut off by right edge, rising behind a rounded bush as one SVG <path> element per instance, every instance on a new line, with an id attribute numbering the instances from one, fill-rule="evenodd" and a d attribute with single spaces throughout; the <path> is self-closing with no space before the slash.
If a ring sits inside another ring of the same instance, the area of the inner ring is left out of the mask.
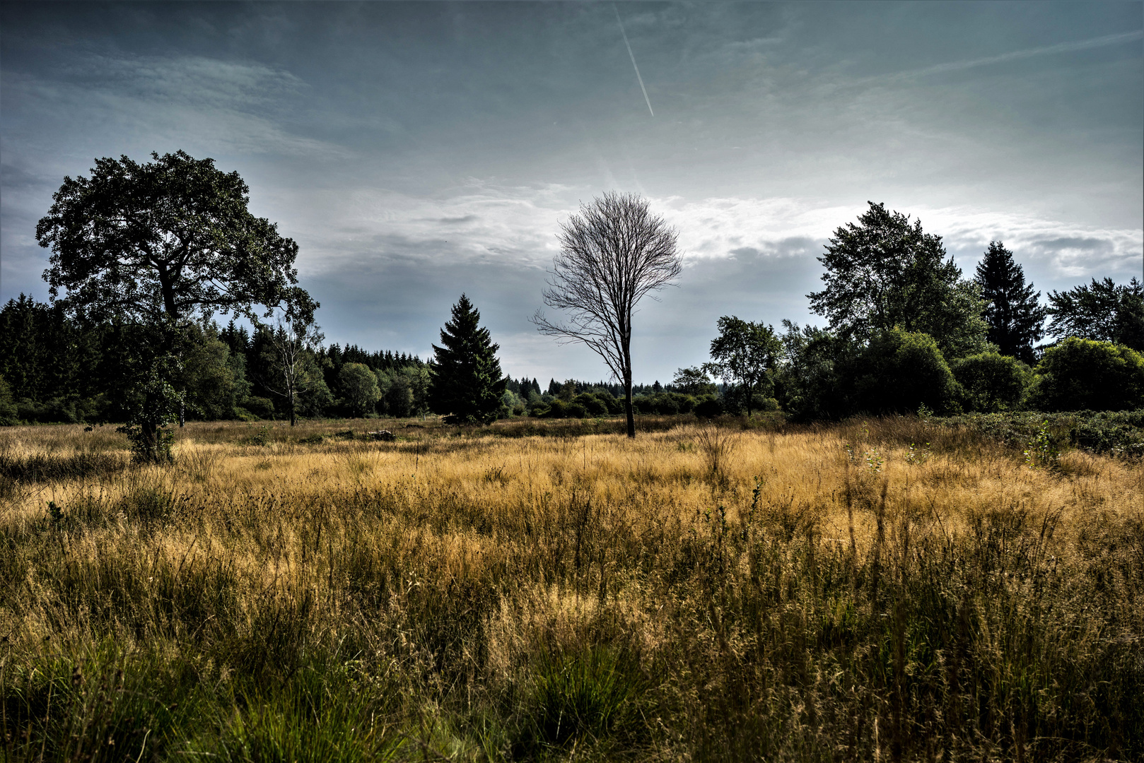
<path id="1" fill-rule="evenodd" d="M 1126 286 L 1117 286 L 1111 278 L 1101 281 L 1094 278 L 1089 286 L 1052 292 L 1049 303 L 1052 334 L 1144 351 L 1144 284 L 1136 278 Z"/>

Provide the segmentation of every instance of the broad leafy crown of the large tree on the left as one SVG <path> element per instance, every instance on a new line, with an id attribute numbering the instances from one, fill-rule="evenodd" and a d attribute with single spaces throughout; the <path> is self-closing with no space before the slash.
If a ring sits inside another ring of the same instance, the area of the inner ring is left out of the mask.
<path id="1" fill-rule="evenodd" d="M 297 245 L 247 209 L 246 183 L 183 151 L 138 164 L 96 159 L 90 177 L 64 177 L 35 226 L 51 249 L 51 296 L 73 315 L 158 324 L 194 312 L 318 307 L 295 286 Z"/>

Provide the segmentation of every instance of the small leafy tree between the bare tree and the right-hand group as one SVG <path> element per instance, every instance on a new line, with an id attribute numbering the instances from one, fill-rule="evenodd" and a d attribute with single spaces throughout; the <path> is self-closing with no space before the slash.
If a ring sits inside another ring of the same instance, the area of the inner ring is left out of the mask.
<path id="1" fill-rule="evenodd" d="M 756 396 L 765 397 L 772 389 L 771 372 L 782 353 L 782 342 L 774 328 L 734 316 L 718 319 L 718 336 L 712 340 L 712 363 L 704 371 L 718 376 L 728 386 L 728 397 L 747 410 Z"/>

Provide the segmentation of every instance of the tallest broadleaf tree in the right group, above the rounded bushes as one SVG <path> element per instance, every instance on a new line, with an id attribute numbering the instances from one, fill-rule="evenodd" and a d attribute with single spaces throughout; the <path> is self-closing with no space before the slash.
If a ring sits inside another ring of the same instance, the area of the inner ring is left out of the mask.
<path id="1" fill-rule="evenodd" d="M 811 310 L 831 331 L 865 343 L 880 332 L 900 328 L 935 339 L 947 357 L 985 348 L 987 326 L 977 285 L 961 278 L 940 236 L 922 231 L 907 215 L 869 201 L 858 224 L 834 231 L 826 254 L 826 288 L 808 294 Z"/>

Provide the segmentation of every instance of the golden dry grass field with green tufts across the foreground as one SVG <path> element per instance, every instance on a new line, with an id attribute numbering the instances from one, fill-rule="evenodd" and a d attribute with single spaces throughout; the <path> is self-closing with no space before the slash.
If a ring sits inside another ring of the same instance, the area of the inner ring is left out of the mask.
<path id="1" fill-rule="evenodd" d="M 5 760 L 1144 758 L 1139 461 L 621 426 L 0 430 Z"/>

